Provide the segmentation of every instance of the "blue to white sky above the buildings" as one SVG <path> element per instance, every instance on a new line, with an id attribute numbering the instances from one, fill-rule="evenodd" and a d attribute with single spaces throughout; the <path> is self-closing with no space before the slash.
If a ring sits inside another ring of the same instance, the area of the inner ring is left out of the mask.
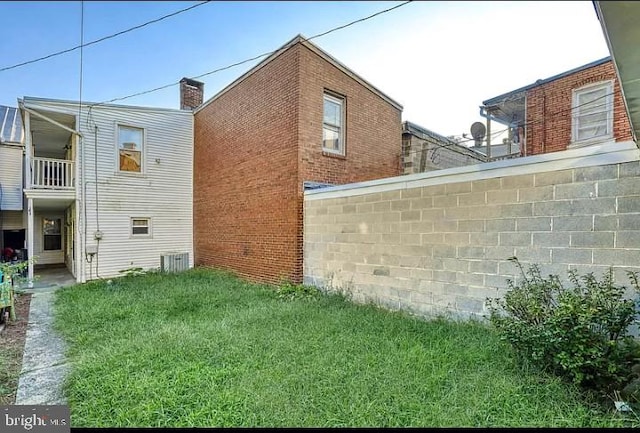
<path id="1" fill-rule="evenodd" d="M 0 69 L 197 3 L 2 1 Z M 211 1 L 82 53 L 0 71 L 0 105 L 16 106 L 24 96 L 90 102 L 123 97 L 274 51 L 297 34 L 311 37 L 401 3 Z M 313 43 L 399 102 L 403 120 L 445 136 L 468 134 L 473 122 L 483 120 L 479 106 L 484 100 L 609 55 L 591 1 L 413 1 Z M 262 59 L 199 79 L 205 100 Z M 179 108 L 179 89 L 117 103 Z"/>

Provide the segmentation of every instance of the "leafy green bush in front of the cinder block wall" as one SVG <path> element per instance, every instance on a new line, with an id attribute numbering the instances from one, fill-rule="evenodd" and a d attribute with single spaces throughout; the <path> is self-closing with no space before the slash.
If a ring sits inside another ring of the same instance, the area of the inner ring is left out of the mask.
<path id="1" fill-rule="evenodd" d="M 522 281 L 508 281 L 504 299 L 488 299 L 490 322 L 518 354 L 574 383 L 599 391 L 619 389 L 633 373 L 639 345 L 629 335 L 636 305 L 625 299 L 609 268 L 599 281 L 593 273 L 569 271 L 571 288 L 557 275 L 542 277 L 537 265 L 525 272 L 513 261 Z M 640 293 L 638 278 L 629 272 Z"/>

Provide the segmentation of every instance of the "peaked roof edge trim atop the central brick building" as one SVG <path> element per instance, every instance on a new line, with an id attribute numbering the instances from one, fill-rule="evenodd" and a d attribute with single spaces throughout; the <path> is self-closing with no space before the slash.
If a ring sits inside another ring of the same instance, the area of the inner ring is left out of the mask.
<path id="1" fill-rule="evenodd" d="M 218 93 L 213 95 L 211 98 L 207 99 L 202 105 L 200 105 L 198 108 L 196 108 L 194 110 L 194 113 L 197 113 L 198 111 L 204 109 L 211 102 L 215 101 L 220 96 L 222 96 L 225 93 L 227 93 L 229 90 L 231 90 L 232 88 L 234 88 L 235 86 L 240 84 L 242 81 L 244 81 L 247 77 L 249 77 L 250 75 L 252 75 L 256 71 L 258 71 L 259 69 L 261 69 L 262 67 L 264 67 L 265 65 L 270 63 L 271 61 L 275 60 L 280 54 L 284 53 L 285 51 L 287 51 L 288 49 L 290 49 L 291 47 L 293 47 L 293 46 L 295 46 L 297 44 L 304 45 L 306 48 L 310 49 L 311 51 L 313 51 L 314 53 L 316 53 L 317 55 L 322 57 L 324 60 L 326 60 L 327 62 L 331 63 L 333 66 L 338 68 L 340 71 L 342 71 L 343 73 L 345 73 L 349 77 L 353 78 L 358 83 L 362 84 L 364 87 L 366 87 L 367 89 L 369 89 L 370 91 L 372 91 L 373 93 L 378 95 L 380 98 L 382 98 L 383 100 L 385 100 L 386 102 L 388 102 L 389 104 L 394 106 L 396 109 L 402 110 L 402 105 L 400 105 L 398 102 L 396 102 L 395 100 L 391 99 L 389 96 L 387 96 L 382 91 L 377 89 L 375 86 L 373 86 L 367 80 L 362 78 L 360 75 L 356 74 L 351 69 L 347 68 L 344 64 L 339 62 L 337 59 L 335 59 L 329 53 L 327 53 L 326 51 L 324 51 L 323 49 L 321 49 L 317 45 L 311 43 L 309 40 L 307 40 L 307 38 L 305 38 L 304 36 L 299 34 L 296 37 L 294 37 L 293 39 L 291 39 L 289 42 L 287 42 L 286 44 L 284 44 L 283 46 L 278 48 L 277 50 L 273 51 L 269 57 L 264 59 L 262 62 L 258 63 L 253 68 L 249 69 L 247 72 L 242 74 L 240 77 L 238 77 L 231 84 L 229 84 L 228 86 L 226 86 L 225 88 L 220 90 Z"/>

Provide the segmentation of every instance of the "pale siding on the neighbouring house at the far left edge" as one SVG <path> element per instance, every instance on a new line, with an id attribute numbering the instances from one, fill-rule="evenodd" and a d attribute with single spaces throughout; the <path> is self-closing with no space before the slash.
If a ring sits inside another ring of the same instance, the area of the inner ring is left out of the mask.
<path id="1" fill-rule="evenodd" d="M 22 210 L 22 153 L 23 147 L 0 144 L 0 208 Z"/>

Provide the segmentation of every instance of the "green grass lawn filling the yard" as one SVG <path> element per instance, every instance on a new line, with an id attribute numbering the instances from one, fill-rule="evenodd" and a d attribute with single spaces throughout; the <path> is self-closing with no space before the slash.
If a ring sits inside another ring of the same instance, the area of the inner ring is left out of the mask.
<path id="1" fill-rule="evenodd" d="M 57 295 L 74 427 L 624 425 L 477 323 L 282 299 L 206 269 Z"/>

